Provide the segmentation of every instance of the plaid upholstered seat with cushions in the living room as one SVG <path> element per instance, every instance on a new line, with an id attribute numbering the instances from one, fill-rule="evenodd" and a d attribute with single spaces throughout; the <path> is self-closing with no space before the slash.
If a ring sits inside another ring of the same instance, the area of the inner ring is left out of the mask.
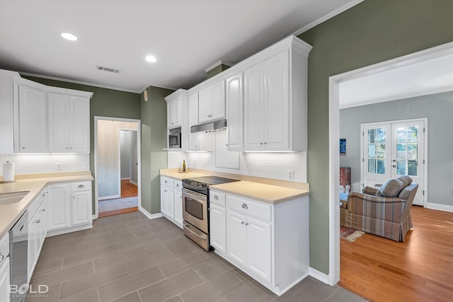
<path id="1" fill-rule="evenodd" d="M 365 187 L 340 200 L 340 226 L 403 241 L 413 227 L 411 207 L 418 184 L 408 175 L 387 180 L 379 189 Z"/>

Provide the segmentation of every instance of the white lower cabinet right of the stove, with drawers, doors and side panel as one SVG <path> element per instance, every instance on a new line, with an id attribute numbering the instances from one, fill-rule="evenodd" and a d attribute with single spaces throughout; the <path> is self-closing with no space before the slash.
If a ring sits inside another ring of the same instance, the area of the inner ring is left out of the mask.
<path id="1" fill-rule="evenodd" d="M 210 243 L 281 296 L 309 274 L 309 197 L 272 204 L 212 189 Z"/>

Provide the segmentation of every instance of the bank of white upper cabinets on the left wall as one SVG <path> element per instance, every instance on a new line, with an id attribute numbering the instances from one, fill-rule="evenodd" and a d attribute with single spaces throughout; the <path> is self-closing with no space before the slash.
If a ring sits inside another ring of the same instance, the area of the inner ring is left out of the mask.
<path id="1" fill-rule="evenodd" d="M 90 152 L 93 93 L 0 75 L 0 154 Z"/>

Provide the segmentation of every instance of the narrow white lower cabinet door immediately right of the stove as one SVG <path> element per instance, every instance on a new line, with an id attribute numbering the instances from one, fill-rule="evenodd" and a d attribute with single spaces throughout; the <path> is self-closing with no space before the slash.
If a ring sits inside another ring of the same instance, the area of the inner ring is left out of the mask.
<path id="1" fill-rule="evenodd" d="M 219 254 L 226 254 L 226 213 L 224 207 L 210 204 L 210 242 Z"/>

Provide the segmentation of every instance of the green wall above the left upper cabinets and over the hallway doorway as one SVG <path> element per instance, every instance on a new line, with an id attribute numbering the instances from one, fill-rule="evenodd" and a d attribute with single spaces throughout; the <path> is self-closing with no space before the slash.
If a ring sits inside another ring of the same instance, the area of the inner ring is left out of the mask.
<path id="1" fill-rule="evenodd" d="M 21 77 L 48 86 L 89 91 L 93 93 L 93 98 L 90 100 L 90 167 L 92 175 L 94 175 L 94 116 L 140 119 L 140 95 L 138 93 L 42 79 L 34 76 L 21 75 Z M 94 200 L 93 190 L 93 214 L 95 211 Z"/>

